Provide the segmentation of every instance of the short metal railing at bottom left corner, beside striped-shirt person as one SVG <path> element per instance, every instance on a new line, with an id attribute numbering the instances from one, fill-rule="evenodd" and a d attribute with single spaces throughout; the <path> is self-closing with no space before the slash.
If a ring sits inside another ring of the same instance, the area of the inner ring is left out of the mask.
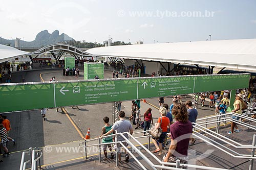
<path id="1" fill-rule="evenodd" d="M 30 159 L 25 161 L 25 154 L 28 154 L 30 156 Z M 31 170 L 38 169 L 37 163 L 39 164 L 39 168 L 41 169 L 41 162 L 40 158 L 42 156 L 42 150 L 38 148 L 29 148 L 29 151 L 24 151 L 22 153 L 22 159 L 20 161 L 19 170 L 25 170 L 28 163 L 30 163 Z"/>

